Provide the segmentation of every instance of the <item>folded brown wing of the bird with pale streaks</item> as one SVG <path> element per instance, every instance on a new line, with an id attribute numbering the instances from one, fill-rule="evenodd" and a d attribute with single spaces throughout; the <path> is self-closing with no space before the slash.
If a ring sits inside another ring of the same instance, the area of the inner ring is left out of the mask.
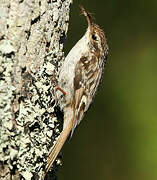
<path id="1" fill-rule="evenodd" d="M 71 136 L 93 101 L 93 95 L 97 90 L 102 75 L 99 72 L 102 71 L 100 67 L 99 61 L 95 56 L 92 56 L 90 59 L 83 56 L 76 65 L 74 78 L 74 121 Z"/>

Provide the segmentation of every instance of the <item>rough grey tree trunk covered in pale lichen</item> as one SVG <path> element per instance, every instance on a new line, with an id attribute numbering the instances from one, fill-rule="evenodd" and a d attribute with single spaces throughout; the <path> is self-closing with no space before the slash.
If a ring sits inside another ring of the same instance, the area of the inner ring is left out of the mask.
<path id="1" fill-rule="evenodd" d="M 59 134 L 53 76 L 71 0 L 0 0 L 0 179 L 41 179 Z M 52 175 L 54 178 L 54 175 Z"/>

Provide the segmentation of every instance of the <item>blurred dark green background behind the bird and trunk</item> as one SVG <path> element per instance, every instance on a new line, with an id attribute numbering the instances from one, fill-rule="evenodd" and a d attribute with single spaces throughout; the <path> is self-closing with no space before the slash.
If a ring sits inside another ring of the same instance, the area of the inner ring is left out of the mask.
<path id="1" fill-rule="evenodd" d="M 63 148 L 59 180 L 157 180 L 157 1 L 74 0 L 66 53 L 87 28 L 80 4 L 110 51 L 96 99 Z"/>

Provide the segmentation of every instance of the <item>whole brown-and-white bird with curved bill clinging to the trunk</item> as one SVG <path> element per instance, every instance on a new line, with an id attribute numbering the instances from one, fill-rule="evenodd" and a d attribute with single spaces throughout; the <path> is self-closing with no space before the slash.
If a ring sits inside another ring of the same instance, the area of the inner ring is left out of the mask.
<path id="1" fill-rule="evenodd" d="M 58 86 L 66 95 L 58 91 L 58 103 L 64 112 L 63 130 L 49 153 L 45 174 L 55 161 L 68 135 L 83 119 L 92 103 L 100 84 L 108 46 L 103 30 L 93 23 L 90 14 L 81 7 L 88 21 L 85 35 L 67 55 L 61 67 Z M 45 175 L 44 174 L 44 175 Z"/>

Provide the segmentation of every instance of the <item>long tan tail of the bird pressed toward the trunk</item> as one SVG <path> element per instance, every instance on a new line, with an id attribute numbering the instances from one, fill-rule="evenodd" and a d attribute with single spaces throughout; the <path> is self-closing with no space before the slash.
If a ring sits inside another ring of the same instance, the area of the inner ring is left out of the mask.
<path id="1" fill-rule="evenodd" d="M 52 166 L 53 162 L 55 161 L 57 155 L 59 154 L 62 146 L 64 145 L 70 131 L 72 128 L 72 121 L 69 121 L 69 123 L 63 128 L 63 131 L 61 132 L 58 140 L 56 143 L 53 145 L 52 149 L 50 150 L 49 156 L 48 156 L 48 161 L 47 161 L 47 166 L 44 172 L 44 177 L 49 171 L 50 167 Z"/>

